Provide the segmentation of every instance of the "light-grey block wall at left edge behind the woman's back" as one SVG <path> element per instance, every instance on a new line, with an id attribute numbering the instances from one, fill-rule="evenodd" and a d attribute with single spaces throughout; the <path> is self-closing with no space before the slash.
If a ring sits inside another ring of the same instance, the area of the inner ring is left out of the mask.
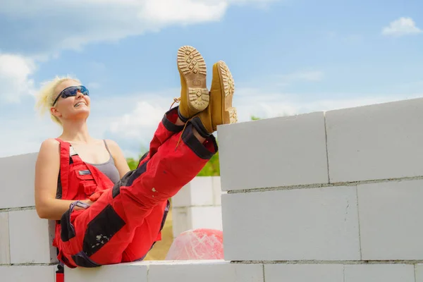
<path id="1" fill-rule="evenodd" d="M 54 222 L 35 211 L 37 154 L 0 158 L 0 281 L 55 281 Z"/>

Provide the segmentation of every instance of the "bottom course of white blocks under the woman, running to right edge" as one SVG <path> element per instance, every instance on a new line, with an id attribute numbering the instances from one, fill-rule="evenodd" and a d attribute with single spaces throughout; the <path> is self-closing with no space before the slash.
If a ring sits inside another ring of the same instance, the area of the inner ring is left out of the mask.
<path id="1" fill-rule="evenodd" d="M 1 267 L 1 266 L 0 266 Z M 422 282 L 413 264 L 243 264 L 229 262 L 142 262 L 94 269 L 65 268 L 66 282 Z M 1 268 L 0 268 L 1 271 Z"/>

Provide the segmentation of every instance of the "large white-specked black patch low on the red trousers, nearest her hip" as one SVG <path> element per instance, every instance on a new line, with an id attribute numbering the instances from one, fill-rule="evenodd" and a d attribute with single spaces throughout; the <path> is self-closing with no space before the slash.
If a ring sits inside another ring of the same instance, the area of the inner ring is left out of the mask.
<path id="1" fill-rule="evenodd" d="M 85 231 L 82 251 L 88 257 L 94 255 L 111 238 L 125 226 L 125 221 L 119 216 L 111 205 L 107 205 L 90 223 Z"/>

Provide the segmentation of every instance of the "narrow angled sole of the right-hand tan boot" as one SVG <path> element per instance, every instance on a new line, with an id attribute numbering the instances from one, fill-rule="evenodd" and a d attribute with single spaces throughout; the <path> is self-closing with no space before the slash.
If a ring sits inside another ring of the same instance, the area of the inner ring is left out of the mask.
<path id="1" fill-rule="evenodd" d="M 218 61 L 217 68 L 221 81 L 221 89 L 223 90 L 223 124 L 237 123 L 238 114 L 236 108 L 232 106 L 233 93 L 235 92 L 232 73 L 224 61 Z"/>

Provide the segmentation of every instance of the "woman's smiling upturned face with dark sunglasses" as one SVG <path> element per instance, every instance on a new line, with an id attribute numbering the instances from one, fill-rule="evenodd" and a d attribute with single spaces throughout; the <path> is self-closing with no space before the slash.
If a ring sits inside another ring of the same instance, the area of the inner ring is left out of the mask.
<path id="1" fill-rule="evenodd" d="M 64 89 L 71 86 L 79 86 L 80 83 L 75 80 L 65 80 L 56 87 L 54 91 L 54 98 L 61 93 Z M 87 118 L 90 115 L 90 97 L 82 94 L 80 91 L 76 93 L 76 96 L 71 97 L 59 97 L 56 104 L 54 104 L 54 115 L 59 117 L 61 120 L 75 120 Z"/>

